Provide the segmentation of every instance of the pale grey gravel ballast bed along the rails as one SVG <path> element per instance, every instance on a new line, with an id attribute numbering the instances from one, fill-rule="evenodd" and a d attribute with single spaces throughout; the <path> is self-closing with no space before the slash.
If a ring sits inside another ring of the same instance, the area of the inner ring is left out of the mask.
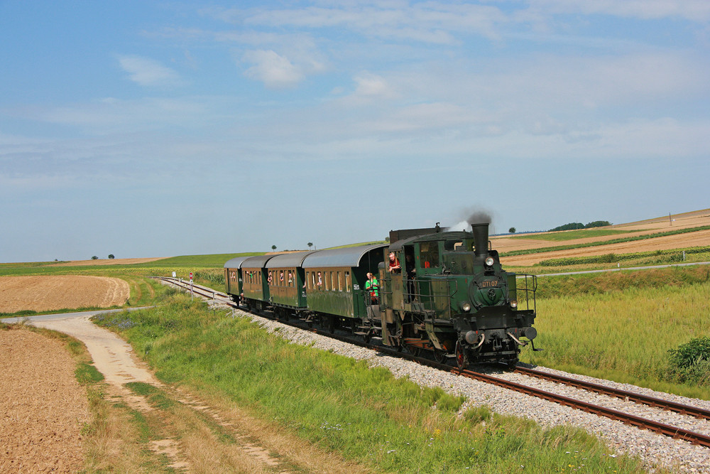
<path id="1" fill-rule="evenodd" d="M 519 394 L 508 389 L 494 387 L 484 382 L 477 382 L 466 377 L 459 377 L 451 373 L 424 367 L 408 360 L 381 355 L 373 350 L 343 343 L 339 340 L 293 328 L 278 323 L 277 321 L 253 316 L 243 311 L 234 311 L 234 314 L 237 316 L 250 317 L 271 332 L 278 330 L 278 334 L 293 343 L 312 345 L 315 348 L 332 350 L 332 352 L 347 357 L 367 360 L 373 366 L 380 365 L 388 368 L 395 377 L 407 376 L 410 380 L 422 386 L 441 387 L 452 394 L 463 395 L 466 397 L 466 403 L 462 407 L 462 410 L 466 409 L 467 406 L 486 404 L 499 414 L 524 416 L 537 421 L 537 423 L 543 426 L 556 426 L 560 424 L 579 426 L 589 433 L 601 436 L 617 453 L 638 455 L 643 460 L 645 467 L 650 471 L 653 471 L 658 465 L 662 465 L 665 468 L 679 473 L 710 473 L 709 448 L 694 446 L 686 441 L 674 440 L 667 436 L 657 435 L 650 431 L 627 426 L 620 421 L 613 421 L 567 406 Z M 568 374 L 557 370 L 545 369 L 544 367 L 537 367 L 537 369 L 555 372 L 567 377 L 586 379 L 598 384 L 621 387 L 630 392 L 650 394 L 657 398 L 672 399 L 679 403 L 710 408 L 710 402 L 705 400 L 687 399 L 677 395 L 653 392 L 643 387 Z M 675 414 L 670 411 L 655 409 L 633 402 L 624 402 L 621 399 L 606 397 L 600 394 L 586 392 L 582 389 L 555 384 L 553 382 L 545 382 L 540 379 L 525 377 L 524 375 L 510 372 L 501 372 L 496 375 L 515 382 L 541 387 L 549 392 L 566 394 L 569 397 L 581 399 L 586 402 L 609 406 L 613 409 L 630 411 L 638 416 L 656 419 L 666 424 L 679 426 L 691 431 L 710 434 L 710 421 L 699 420 L 692 416 Z"/>

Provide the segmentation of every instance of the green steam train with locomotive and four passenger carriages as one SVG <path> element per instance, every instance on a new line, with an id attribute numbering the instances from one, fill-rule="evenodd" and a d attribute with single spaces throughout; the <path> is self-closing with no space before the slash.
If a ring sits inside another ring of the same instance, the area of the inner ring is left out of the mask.
<path id="1" fill-rule="evenodd" d="M 389 244 L 237 257 L 224 271 L 227 293 L 248 309 L 428 351 L 461 368 L 514 365 L 525 345 L 537 350 L 537 281 L 501 268 L 487 223 L 471 232 L 393 230 Z"/>

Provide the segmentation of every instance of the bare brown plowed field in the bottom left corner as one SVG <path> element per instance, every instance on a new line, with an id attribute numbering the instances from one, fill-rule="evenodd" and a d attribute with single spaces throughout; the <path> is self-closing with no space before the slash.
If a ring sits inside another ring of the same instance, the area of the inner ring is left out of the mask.
<path id="1" fill-rule="evenodd" d="M 76 473 L 90 421 L 75 362 L 60 341 L 0 330 L 0 472 Z"/>

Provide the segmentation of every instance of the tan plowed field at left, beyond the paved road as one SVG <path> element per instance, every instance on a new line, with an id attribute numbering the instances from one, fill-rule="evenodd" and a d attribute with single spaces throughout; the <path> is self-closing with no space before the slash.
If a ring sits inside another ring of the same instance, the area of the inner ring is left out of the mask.
<path id="1" fill-rule="evenodd" d="M 0 276 L 0 313 L 122 306 L 129 284 L 107 276 Z"/>

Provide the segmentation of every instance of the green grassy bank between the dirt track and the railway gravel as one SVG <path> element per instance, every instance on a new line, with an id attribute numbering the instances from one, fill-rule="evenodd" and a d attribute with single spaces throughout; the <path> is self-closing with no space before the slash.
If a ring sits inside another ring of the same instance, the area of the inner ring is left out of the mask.
<path id="1" fill-rule="evenodd" d="M 581 430 L 541 429 L 484 408 L 458 416 L 460 397 L 395 379 L 365 362 L 286 343 L 249 319 L 214 313 L 189 296 L 170 296 L 153 310 L 107 315 L 97 323 L 128 338 L 163 382 L 221 394 L 254 416 L 277 420 L 376 470 L 520 472 L 525 465 L 527 472 L 542 473 L 584 463 L 592 472 L 607 466 L 641 471 L 635 460 L 606 456 L 606 448 Z"/>

